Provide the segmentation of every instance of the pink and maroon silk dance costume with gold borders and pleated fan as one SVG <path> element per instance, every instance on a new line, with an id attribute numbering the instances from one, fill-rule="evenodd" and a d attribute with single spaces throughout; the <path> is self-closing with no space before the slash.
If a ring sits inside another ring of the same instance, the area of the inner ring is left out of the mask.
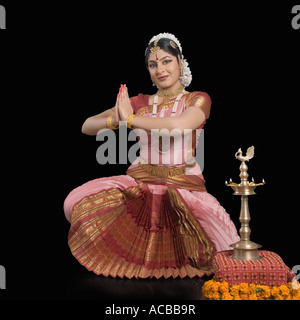
<path id="1" fill-rule="evenodd" d="M 131 98 L 138 116 L 151 117 L 148 99 L 142 94 Z M 184 95 L 176 115 L 199 99 L 210 102 L 203 92 Z M 159 105 L 157 116 L 170 116 L 173 103 Z M 208 118 L 209 109 L 203 112 Z M 82 265 L 97 275 L 121 278 L 192 278 L 213 272 L 214 254 L 230 249 L 239 237 L 224 208 L 206 191 L 198 163 L 189 164 L 203 126 L 193 132 L 192 150 L 174 139 L 162 154 L 153 147 L 158 139 L 140 135 L 140 156 L 125 175 L 98 178 L 70 192 L 64 203 L 71 223 L 68 242 Z"/>

